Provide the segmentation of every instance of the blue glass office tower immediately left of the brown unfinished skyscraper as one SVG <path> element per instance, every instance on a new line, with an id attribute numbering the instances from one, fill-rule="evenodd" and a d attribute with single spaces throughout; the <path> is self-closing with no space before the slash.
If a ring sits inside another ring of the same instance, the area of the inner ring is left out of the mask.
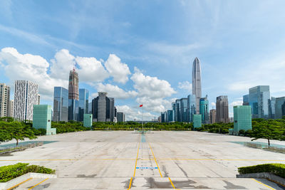
<path id="1" fill-rule="evenodd" d="M 68 122 L 68 90 L 63 87 L 53 89 L 53 121 Z"/>

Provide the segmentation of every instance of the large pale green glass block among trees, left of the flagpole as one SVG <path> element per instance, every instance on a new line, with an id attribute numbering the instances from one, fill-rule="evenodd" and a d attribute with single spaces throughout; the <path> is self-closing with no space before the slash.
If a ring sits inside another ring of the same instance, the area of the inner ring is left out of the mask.
<path id="1" fill-rule="evenodd" d="M 56 128 L 51 128 L 51 105 L 33 105 L 33 128 L 45 129 L 46 135 L 56 134 Z"/>

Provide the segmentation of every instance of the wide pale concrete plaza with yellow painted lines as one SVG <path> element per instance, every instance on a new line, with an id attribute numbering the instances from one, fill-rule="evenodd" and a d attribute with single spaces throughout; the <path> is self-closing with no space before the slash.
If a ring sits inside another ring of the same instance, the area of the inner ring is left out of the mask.
<path id="1" fill-rule="evenodd" d="M 88 131 L 38 137 L 56 141 L 1 156 L 0 166 L 26 162 L 56 169 L 16 189 L 283 189 L 266 179 L 237 179 L 238 167 L 285 164 L 285 154 L 207 132 Z M 259 140 L 266 142 L 266 140 Z M 284 142 L 272 141 L 274 144 Z M 38 185 L 37 185 L 38 184 Z"/>

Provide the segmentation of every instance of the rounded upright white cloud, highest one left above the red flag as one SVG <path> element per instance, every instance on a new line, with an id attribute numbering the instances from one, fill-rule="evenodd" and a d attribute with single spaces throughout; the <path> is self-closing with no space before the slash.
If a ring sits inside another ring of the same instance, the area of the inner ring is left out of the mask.
<path id="1" fill-rule="evenodd" d="M 122 63 L 120 58 L 115 54 L 110 54 L 108 60 L 105 62 L 105 67 L 110 75 L 113 76 L 115 82 L 125 84 L 129 80 L 130 69 L 128 65 Z"/>

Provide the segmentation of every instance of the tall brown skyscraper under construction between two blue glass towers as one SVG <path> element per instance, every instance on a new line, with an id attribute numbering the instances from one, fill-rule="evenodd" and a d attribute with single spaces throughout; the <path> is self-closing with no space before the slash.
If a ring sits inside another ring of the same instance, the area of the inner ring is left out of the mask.
<path id="1" fill-rule="evenodd" d="M 79 108 L 79 90 L 78 90 L 78 73 L 73 68 L 69 72 L 69 84 L 68 84 L 68 121 L 78 120 Z"/>

